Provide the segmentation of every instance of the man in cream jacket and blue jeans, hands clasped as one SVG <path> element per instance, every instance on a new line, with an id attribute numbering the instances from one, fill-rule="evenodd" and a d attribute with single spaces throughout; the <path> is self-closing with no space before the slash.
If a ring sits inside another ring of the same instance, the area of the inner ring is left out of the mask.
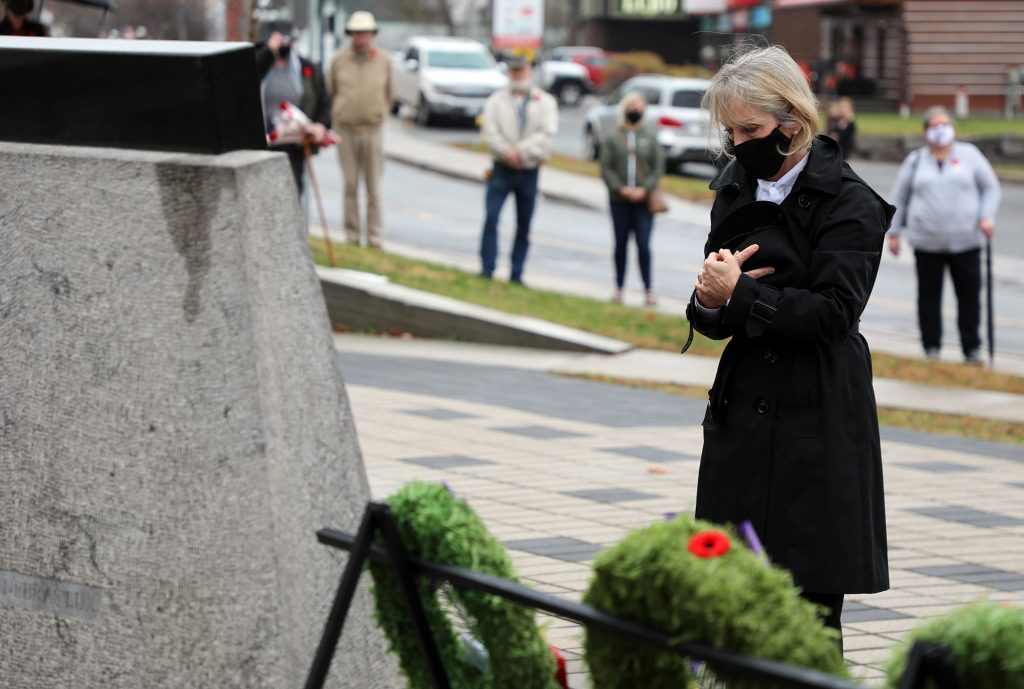
<path id="1" fill-rule="evenodd" d="M 516 232 L 510 281 L 521 285 L 539 171 L 551 157 L 558 130 L 558 104 L 551 94 L 530 84 L 529 62 L 525 58 L 513 56 L 508 66 L 508 87 L 493 93 L 483 105 L 483 140 L 490 148 L 495 166 L 487 180 L 480 274 L 490 277 L 495 271 L 498 217 L 511 191 L 515 193 Z"/>

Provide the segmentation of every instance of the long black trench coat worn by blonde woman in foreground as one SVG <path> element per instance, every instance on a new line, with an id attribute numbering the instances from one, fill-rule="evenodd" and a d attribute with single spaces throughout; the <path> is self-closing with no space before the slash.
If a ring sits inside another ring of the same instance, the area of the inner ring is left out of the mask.
<path id="1" fill-rule="evenodd" d="M 731 337 L 703 421 L 696 516 L 750 520 L 771 560 L 819 594 L 889 588 L 882 450 L 871 360 L 857 324 L 895 209 L 818 137 L 779 206 L 754 202 L 757 180 L 732 161 L 705 256 L 760 250 L 719 317 L 687 315 Z"/>

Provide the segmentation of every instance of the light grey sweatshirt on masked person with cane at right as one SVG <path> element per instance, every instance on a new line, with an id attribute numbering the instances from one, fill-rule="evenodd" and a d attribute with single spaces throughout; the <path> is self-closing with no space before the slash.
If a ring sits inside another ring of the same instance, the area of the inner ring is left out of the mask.
<path id="1" fill-rule="evenodd" d="M 973 143 L 955 141 L 941 168 L 924 146 L 903 161 L 891 201 L 891 233 L 902 233 L 914 249 L 957 254 L 981 246 L 978 221 L 995 219 L 999 180 Z"/>

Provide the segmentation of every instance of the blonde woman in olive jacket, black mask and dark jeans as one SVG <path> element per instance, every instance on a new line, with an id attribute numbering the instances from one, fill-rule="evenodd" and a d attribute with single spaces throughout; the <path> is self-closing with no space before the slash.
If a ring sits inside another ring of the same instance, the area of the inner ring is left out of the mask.
<path id="1" fill-rule="evenodd" d="M 665 152 L 654 132 L 643 126 L 646 105 L 643 94 L 636 91 L 627 93 L 618 102 L 618 127 L 601 143 L 601 176 L 608 186 L 611 224 L 615 232 L 615 292 L 611 301 L 623 300 L 626 249 L 633 234 L 644 301 L 653 306 L 656 300 L 650 274 L 650 233 L 654 216 L 647 210 L 647 198 L 662 179 Z"/>

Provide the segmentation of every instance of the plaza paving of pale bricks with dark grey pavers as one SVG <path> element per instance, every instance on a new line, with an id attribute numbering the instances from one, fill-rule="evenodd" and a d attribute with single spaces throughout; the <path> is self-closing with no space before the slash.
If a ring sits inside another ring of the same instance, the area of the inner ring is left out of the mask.
<path id="1" fill-rule="evenodd" d="M 597 552 L 692 509 L 700 400 L 415 354 L 339 357 L 374 497 L 447 479 L 538 590 L 579 600 Z M 982 596 L 1024 602 L 1024 448 L 884 428 L 882 449 L 893 588 L 849 597 L 843 615 L 869 685 L 920 618 Z M 580 630 L 550 620 L 548 635 L 573 689 L 587 686 Z"/>

